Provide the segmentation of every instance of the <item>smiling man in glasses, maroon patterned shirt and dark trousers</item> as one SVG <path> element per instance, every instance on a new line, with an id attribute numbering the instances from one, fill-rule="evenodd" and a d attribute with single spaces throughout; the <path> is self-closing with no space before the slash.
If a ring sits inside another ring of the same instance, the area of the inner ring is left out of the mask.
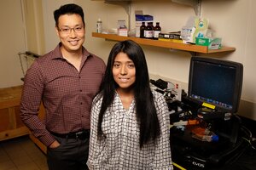
<path id="1" fill-rule="evenodd" d="M 84 12 L 67 4 L 54 12 L 61 42 L 26 72 L 20 117 L 47 150 L 49 170 L 87 169 L 90 108 L 106 68 L 84 47 Z M 38 117 L 43 101 L 44 122 Z"/>

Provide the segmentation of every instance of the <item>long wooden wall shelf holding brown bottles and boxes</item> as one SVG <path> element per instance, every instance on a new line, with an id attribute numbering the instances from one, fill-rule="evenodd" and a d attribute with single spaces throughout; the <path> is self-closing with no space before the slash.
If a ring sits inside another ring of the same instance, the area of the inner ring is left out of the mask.
<path id="1" fill-rule="evenodd" d="M 148 45 L 148 46 L 154 46 L 154 47 L 160 47 L 160 48 L 172 48 L 172 49 L 178 49 L 178 50 L 201 53 L 201 54 L 232 52 L 236 50 L 236 48 L 231 48 L 231 47 L 222 47 L 221 49 L 208 49 L 206 46 L 199 46 L 194 44 L 165 42 L 160 40 L 150 40 L 150 39 L 144 39 L 144 38 L 138 38 L 138 37 L 121 37 L 116 34 L 102 34 L 102 33 L 96 33 L 96 32 L 92 32 L 92 37 L 100 37 L 100 38 L 105 38 L 106 40 L 112 40 L 112 41 L 124 41 L 124 40 L 131 39 L 134 42 L 137 42 L 138 44 L 141 44 L 141 45 Z"/>

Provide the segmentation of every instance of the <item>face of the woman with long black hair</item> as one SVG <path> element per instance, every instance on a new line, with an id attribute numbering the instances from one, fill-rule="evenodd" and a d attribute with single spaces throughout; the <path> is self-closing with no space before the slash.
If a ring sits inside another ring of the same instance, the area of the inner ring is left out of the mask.
<path id="1" fill-rule="evenodd" d="M 119 90 L 131 88 L 136 81 L 136 69 L 127 54 L 120 52 L 113 62 L 113 79 L 119 85 Z"/>

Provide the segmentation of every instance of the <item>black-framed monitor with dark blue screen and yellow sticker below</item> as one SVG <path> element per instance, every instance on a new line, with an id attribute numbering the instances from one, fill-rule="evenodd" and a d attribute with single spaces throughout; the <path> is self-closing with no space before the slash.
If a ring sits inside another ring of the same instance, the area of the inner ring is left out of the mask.
<path id="1" fill-rule="evenodd" d="M 192 57 L 189 99 L 211 109 L 235 113 L 238 109 L 243 66 L 233 61 Z"/>

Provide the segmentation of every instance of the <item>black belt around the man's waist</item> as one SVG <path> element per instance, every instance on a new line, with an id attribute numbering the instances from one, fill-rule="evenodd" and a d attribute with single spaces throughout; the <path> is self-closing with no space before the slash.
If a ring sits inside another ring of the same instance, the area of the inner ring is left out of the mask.
<path id="1" fill-rule="evenodd" d="M 56 137 L 63 138 L 63 139 L 88 139 L 90 138 L 90 129 L 82 129 L 79 130 L 78 132 L 72 132 L 72 133 L 54 133 L 50 132 L 49 133 L 53 134 Z"/>

